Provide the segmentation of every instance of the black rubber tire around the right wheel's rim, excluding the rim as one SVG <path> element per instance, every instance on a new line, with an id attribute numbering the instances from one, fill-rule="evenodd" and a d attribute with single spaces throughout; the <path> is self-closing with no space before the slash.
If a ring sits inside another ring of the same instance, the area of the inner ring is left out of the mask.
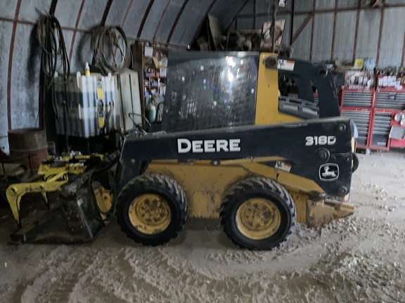
<path id="1" fill-rule="evenodd" d="M 238 209 L 253 198 L 271 201 L 280 214 L 280 224 L 275 233 L 268 238 L 259 240 L 249 238 L 238 229 L 236 222 Z M 222 201 L 220 216 L 226 236 L 240 248 L 250 250 L 271 250 L 280 246 L 293 234 L 297 220 L 293 198 L 288 191 L 278 182 L 266 177 L 249 177 L 230 187 Z"/>

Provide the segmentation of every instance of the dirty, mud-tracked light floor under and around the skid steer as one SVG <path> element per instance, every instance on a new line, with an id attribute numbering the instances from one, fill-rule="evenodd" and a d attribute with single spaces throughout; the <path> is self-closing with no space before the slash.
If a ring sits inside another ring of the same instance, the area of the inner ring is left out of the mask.
<path id="1" fill-rule="evenodd" d="M 299 225 L 282 248 L 236 248 L 193 220 L 169 245 L 136 245 L 116 222 L 89 245 L 7 245 L 0 302 L 405 302 L 405 158 L 360 155 L 352 217 Z"/>

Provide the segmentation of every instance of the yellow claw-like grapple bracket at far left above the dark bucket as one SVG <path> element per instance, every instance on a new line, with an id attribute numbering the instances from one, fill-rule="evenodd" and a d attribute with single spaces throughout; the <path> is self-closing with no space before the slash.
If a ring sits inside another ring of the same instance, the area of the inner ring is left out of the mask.
<path id="1" fill-rule="evenodd" d="M 21 225 L 20 203 L 25 194 L 41 193 L 46 204 L 48 204 L 47 192 L 58 191 L 63 184 L 68 182 L 68 172 L 64 171 L 43 182 L 13 184 L 7 188 L 6 197 L 10 204 L 15 221 Z"/>

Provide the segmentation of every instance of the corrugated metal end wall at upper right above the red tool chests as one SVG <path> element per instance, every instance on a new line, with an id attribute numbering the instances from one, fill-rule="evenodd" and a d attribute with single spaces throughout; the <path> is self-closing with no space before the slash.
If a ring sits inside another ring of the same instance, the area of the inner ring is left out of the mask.
<path id="1" fill-rule="evenodd" d="M 373 58 L 378 67 L 404 66 L 405 0 L 386 0 L 384 8 L 368 8 L 364 0 L 295 0 L 293 10 L 292 3 L 287 2 L 277 19 L 286 20 L 283 43 L 293 45 L 295 58 L 348 62 Z M 268 12 L 269 1 L 250 0 L 231 28 L 260 29 L 271 20 Z"/>

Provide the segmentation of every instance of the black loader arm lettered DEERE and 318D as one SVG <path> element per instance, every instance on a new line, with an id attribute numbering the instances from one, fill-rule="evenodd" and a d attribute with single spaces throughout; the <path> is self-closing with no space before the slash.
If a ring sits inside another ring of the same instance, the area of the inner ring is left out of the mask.
<path id="1" fill-rule="evenodd" d="M 345 197 L 352 179 L 353 128 L 337 117 L 263 126 L 238 126 L 127 137 L 121 154 L 121 187 L 153 160 L 245 159 L 279 156 L 290 173 L 313 180 L 325 194 Z"/>

